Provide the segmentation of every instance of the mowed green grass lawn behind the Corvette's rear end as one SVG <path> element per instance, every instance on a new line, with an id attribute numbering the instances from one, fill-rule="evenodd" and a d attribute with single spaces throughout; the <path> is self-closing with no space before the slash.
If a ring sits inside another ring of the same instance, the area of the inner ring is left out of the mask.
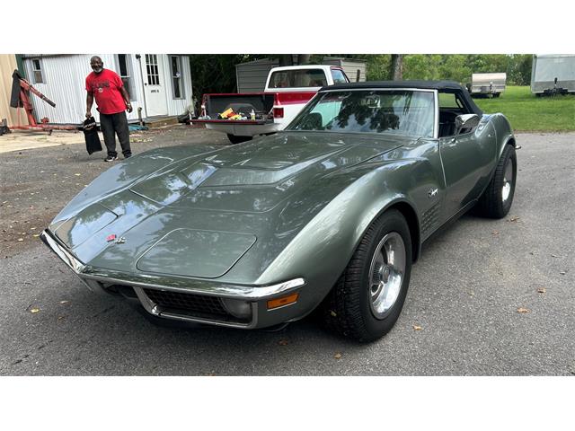
<path id="1" fill-rule="evenodd" d="M 474 99 L 484 112 L 501 112 L 514 130 L 575 130 L 575 96 L 535 97 L 529 87 L 507 86 L 498 99 Z"/>

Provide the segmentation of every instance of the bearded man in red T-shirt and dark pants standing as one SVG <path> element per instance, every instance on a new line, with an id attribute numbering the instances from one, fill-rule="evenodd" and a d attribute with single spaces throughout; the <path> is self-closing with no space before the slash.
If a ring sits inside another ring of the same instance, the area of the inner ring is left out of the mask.
<path id="1" fill-rule="evenodd" d="M 129 147 L 128 119 L 126 110 L 132 111 L 128 92 L 124 88 L 121 78 L 115 72 L 104 69 L 102 58 L 90 58 L 93 72 L 86 76 L 86 118 L 92 117 L 93 99 L 96 98 L 97 110 L 100 112 L 100 126 L 104 143 L 108 149 L 108 157 L 104 162 L 113 162 L 118 159 L 116 153 L 116 134 L 119 145 L 122 147 L 124 158 L 132 155 Z"/>

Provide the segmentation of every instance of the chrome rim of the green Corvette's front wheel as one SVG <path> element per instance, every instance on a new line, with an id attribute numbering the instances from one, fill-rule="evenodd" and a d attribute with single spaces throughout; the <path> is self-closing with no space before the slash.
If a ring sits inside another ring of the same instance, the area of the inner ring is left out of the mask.
<path id="1" fill-rule="evenodd" d="M 377 319 L 385 317 L 397 301 L 405 275 L 405 243 L 399 233 L 387 233 L 377 244 L 369 267 L 371 312 Z"/>

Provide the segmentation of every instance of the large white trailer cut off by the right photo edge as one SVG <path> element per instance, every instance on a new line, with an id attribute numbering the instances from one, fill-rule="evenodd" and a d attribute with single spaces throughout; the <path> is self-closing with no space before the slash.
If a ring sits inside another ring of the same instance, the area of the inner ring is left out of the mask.
<path id="1" fill-rule="evenodd" d="M 575 93 L 575 55 L 535 54 L 531 92 L 538 96 Z"/>

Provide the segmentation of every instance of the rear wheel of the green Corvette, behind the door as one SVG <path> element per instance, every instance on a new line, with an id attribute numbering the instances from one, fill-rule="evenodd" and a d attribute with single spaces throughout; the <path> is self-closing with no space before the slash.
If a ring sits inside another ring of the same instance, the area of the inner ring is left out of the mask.
<path id="1" fill-rule="evenodd" d="M 509 165 L 510 163 L 510 165 Z M 509 166 L 511 174 L 509 175 Z M 507 174 L 506 174 L 507 171 Z M 511 179 L 509 181 L 509 176 Z M 515 195 L 515 181 L 517 179 L 517 155 L 515 146 L 505 145 L 503 154 L 495 168 L 495 173 L 487 189 L 483 191 L 476 206 L 476 213 L 490 218 L 503 218 L 509 213 L 513 196 Z M 509 183 L 509 190 L 506 184 Z"/>

